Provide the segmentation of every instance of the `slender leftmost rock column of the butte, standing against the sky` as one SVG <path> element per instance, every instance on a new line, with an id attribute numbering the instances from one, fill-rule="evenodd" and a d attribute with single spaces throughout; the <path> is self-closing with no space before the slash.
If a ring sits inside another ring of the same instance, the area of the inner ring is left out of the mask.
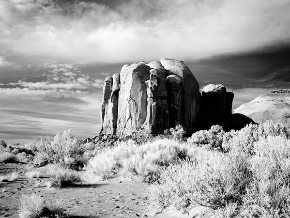
<path id="1" fill-rule="evenodd" d="M 108 110 L 108 103 L 112 93 L 113 78 L 107 77 L 103 86 L 103 102 L 101 106 L 101 131 L 100 133 L 106 133 L 107 129 L 110 129 L 110 113 Z"/>

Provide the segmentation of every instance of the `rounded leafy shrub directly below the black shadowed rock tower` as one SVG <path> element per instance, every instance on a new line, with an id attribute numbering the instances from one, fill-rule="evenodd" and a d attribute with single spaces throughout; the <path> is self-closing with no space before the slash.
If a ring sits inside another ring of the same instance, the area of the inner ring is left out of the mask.
<path id="1" fill-rule="evenodd" d="M 222 150 L 225 131 L 220 125 L 213 125 L 209 130 L 200 130 L 192 134 L 187 142 L 195 147 Z"/>

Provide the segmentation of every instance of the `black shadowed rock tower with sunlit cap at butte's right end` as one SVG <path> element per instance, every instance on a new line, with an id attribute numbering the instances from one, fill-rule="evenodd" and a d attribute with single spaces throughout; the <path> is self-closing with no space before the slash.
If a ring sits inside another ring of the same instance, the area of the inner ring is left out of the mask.
<path id="1" fill-rule="evenodd" d="M 202 89 L 201 95 L 202 129 L 209 129 L 212 125 L 221 125 L 225 131 L 231 128 L 231 109 L 234 94 L 219 84 L 209 84 Z"/>

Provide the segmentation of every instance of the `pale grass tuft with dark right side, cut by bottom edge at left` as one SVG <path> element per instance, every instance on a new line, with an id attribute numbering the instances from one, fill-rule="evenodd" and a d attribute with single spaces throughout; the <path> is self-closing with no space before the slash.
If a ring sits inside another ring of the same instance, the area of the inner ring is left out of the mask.
<path id="1" fill-rule="evenodd" d="M 38 194 L 22 195 L 19 206 L 20 218 L 61 218 L 64 217 L 63 208 L 60 203 L 46 206 L 44 199 Z"/>

